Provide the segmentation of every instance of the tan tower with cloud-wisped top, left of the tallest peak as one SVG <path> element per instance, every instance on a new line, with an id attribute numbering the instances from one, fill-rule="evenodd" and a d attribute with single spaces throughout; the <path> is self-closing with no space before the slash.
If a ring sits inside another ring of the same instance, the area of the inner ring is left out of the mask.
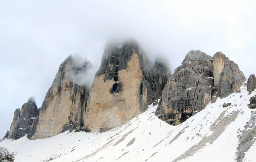
<path id="1" fill-rule="evenodd" d="M 89 92 L 89 88 L 79 84 L 91 66 L 90 62 L 72 55 L 64 60 L 28 136 L 30 139 L 43 139 L 79 127 Z"/>

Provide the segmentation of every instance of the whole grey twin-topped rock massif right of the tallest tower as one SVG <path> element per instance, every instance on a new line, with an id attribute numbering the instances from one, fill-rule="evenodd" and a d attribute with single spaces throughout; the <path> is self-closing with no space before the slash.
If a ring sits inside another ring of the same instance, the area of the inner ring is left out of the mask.
<path id="1" fill-rule="evenodd" d="M 180 124 L 211 100 L 215 102 L 217 97 L 239 90 L 245 80 L 238 65 L 222 52 L 211 58 L 192 50 L 166 84 L 156 115 L 169 124 Z"/>

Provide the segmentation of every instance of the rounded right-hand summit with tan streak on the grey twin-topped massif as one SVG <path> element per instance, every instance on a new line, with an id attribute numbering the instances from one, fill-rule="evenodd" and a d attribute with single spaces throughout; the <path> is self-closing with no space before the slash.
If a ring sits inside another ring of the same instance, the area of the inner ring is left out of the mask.
<path id="1" fill-rule="evenodd" d="M 240 89 L 246 78 L 233 61 L 230 61 L 222 52 L 212 57 L 212 72 L 215 92 L 218 97 L 224 98 Z"/>

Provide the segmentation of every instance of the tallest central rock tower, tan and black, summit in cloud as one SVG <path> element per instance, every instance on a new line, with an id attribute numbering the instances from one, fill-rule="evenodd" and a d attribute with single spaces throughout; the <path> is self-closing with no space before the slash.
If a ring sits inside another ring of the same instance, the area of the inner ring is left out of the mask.
<path id="1" fill-rule="evenodd" d="M 154 69 L 155 74 L 136 41 L 126 41 L 121 46 L 106 45 L 81 130 L 107 131 L 147 110 L 152 101 L 160 98 L 169 73 L 160 63 Z"/>

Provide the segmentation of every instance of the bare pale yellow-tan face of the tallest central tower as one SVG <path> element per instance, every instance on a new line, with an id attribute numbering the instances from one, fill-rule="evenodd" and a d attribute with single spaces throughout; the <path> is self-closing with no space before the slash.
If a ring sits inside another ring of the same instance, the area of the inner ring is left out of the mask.
<path id="1" fill-rule="evenodd" d="M 142 68 L 137 53 L 134 53 L 126 69 L 119 70 L 119 82 L 122 82 L 120 93 L 110 93 L 115 81 L 104 81 L 105 75 L 95 78 L 87 101 L 84 114 L 83 129 L 91 132 L 101 132 L 118 127 L 141 112 L 138 94 L 142 82 Z M 146 101 L 147 93 L 143 93 Z"/>

